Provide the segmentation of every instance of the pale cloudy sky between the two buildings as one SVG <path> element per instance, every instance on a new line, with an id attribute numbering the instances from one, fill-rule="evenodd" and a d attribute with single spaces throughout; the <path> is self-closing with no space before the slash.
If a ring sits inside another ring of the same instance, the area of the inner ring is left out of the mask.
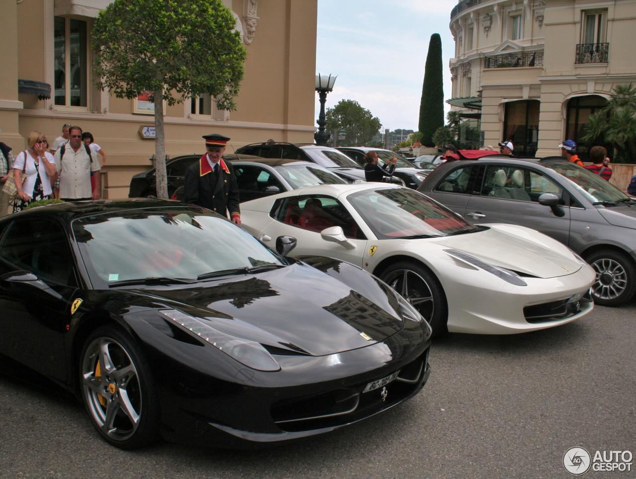
<path id="1" fill-rule="evenodd" d="M 382 129 L 417 131 L 431 35 L 441 36 L 444 101 L 455 52 L 450 11 L 457 0 L 318 0 L 316 73 L 338 75 L 325 108 L 356 100 Z M 315 118 L 320 113 L 315 96 Z M 445 103 L 445 111 L 450 106 Z"/>

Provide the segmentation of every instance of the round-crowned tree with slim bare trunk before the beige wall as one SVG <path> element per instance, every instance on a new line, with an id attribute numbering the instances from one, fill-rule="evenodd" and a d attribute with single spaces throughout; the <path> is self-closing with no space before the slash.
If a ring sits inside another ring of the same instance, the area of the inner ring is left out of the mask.
<path id="1" fill-rule="evenodd" d="M 97 87 L 118 98 L 150 92 L 155 102 L 157 196 L 168 197 L 163 101 L 209 94 L 235 110 L 245 48 L 221 0 L 114 0 L 92 31 Z"/>

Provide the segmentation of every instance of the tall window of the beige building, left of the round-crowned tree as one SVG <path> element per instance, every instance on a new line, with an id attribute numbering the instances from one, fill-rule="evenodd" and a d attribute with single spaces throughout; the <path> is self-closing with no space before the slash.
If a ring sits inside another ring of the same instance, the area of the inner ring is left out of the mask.
<path id="1" fill-rule="evenodd" d="M 55 17 L 53 75 L 56 105 L 88 106 L 87 31 L 86 22 Z"/>

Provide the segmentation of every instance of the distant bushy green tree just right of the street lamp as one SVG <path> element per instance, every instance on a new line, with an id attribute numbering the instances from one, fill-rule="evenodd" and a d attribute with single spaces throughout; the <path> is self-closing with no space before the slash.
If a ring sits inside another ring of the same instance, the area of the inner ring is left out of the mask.
<path id="1" fill-rule="evenodd" d="M 382 128 L 380 119 L 355 100 L 340 100 L 333 108 L 327 108 L 325 115 L 327 131 L 345 132 L 345 139 L 338 139 L 338 145 L 366 145 Z"/>

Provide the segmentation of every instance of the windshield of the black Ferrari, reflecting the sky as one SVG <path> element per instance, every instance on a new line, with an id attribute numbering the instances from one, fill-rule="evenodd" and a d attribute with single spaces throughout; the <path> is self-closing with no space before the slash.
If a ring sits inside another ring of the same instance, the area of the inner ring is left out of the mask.
<path id="1" fill-rule="evenodd" d="M 96 288 L 144 278 L 183 282 L 217 271 L 286 264 L 244 229 L 198 208 L 104 213 L 74 220 L 72 227 Z"/>

